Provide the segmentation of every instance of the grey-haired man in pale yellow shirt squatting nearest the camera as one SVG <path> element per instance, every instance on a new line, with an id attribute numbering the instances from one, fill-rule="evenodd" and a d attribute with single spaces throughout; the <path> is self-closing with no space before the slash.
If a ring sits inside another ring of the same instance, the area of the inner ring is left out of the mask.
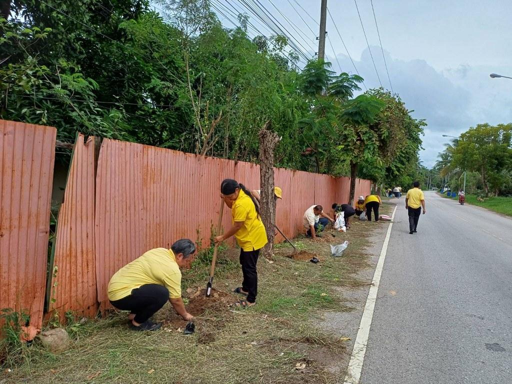
<path id="1" fill-rule="evenodd" d="M 130 311 L 128 318 L 138 331 L 155 331 L 161 324 L 149 318 L 168 300 L 184 320 L 193 316 L 181 300 L 181 271 L 189 269 L 196 246 L 181 239 L 170 249 L 155 248 L 119 269 L 109 282 L 110 303 L 117 309 Z"/>

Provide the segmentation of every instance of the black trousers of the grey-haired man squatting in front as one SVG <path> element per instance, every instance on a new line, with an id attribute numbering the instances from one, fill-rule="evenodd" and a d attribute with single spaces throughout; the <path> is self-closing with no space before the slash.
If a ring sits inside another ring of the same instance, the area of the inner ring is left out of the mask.
<path id="1" fill-rule="evenodd" d="M 160 284 L 145 284 L 132 290 L 129 296 L 110 303 L 122 311 L 135 313 L 135 321 L 144 323 L 169 300 L 169 290 Z"/>

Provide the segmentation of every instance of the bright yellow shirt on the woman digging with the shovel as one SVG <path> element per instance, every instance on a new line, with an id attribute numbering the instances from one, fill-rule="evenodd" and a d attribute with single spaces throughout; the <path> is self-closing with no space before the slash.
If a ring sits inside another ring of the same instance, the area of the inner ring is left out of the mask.
<path id="1" fill-rule="evenodd" d="M 252 251 L 263 248 L 267 244 L 265 226 L 258 217 L 251 198 L 242 189 L 231 207 L 231 214 L 233 224 L 243 222 L 242 227 L 234 234 L 240 248 L 244 251 Z"/>

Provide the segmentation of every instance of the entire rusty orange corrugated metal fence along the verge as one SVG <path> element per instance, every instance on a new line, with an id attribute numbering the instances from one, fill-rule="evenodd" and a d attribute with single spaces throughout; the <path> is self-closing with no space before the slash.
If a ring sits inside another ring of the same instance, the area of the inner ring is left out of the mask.
<path id="1" fill-rule="evenodd" d="M 1 286 L 0 308 L 28 309 L 34 330 L 41 325 L 46 286 L 55 129 L 0 124 L 0 275 L 8 282 Z M 257 164 L 109 139 L 102 142 L 95 172 L 93 138 L 83 140 L 79 135 L 75 144 L 55 239 L 49 308 L 60 313 L 93 315 L 98 302 L 108 307 L 111 276 L 147 249 L 170 247 L 184 237 L 207 247 L 223 179 L 260 188 Z M 348 200 L 348 178 L 274 171 L 275 185 L 283 189 L 276 224 L 289 237 L 303 231 L 309 206 L 321 204 L 331 212 L 333 202 Z M 356 195 L 369 191 L 369 181 L 357 181 Z M 225 229 L 230 214 L 225 210 Z"/>

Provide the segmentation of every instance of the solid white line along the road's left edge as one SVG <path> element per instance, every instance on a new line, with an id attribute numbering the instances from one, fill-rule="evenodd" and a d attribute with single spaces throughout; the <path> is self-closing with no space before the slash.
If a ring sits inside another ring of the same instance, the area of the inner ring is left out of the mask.
<path id="1" fill-rule="evenodd" d="M 395 218 L 396 208 L 393 210 L 391 220 Z M 386 252 L 388 251 L 389 238 L 391 236 L 391 228 L 393 227 L 393 221 L 389 224 L 388 232 L 386 233 L 386 239 L 382 244 L 382 250 L 380 251 L 379 261 L 373 274 L 372 285 L 368 292 L 368 298 L 366 300 L 365 310 L 362 312 L 361 323 L 359 324 L 359 330 L 355 338 L 354 349 L 352 350 L 352 356 L 350 357 L 348 372 L 345 376 L 344 384 L 358 384 L 361 378 L 362 363 L 365 360 L 366 346 L 368 343 L 368 336 L 370 334 L 370 327 L 372 325 L 373 309 L 375 307 L 375 301 L 377 299 L 377 291 L 379 289 L 380 275 L 384 266 L 384 260 L 386 260 Z"/>

